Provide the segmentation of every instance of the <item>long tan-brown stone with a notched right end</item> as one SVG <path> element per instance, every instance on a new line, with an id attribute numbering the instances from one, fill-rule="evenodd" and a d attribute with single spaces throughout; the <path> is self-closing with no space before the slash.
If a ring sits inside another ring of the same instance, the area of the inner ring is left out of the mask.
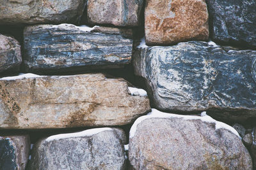
<path id="1" fill-rule="evenodd" d="M 129 124 L 150 106 L 128 93 L 127 81 L 103 74 L 0 80 L 0 128 Z"/>

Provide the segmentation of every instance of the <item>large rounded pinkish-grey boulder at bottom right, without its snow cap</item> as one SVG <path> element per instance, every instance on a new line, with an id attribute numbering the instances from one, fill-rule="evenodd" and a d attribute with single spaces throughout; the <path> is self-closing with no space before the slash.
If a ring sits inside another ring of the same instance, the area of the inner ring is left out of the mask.
<path id="1" fill-rule="evenodd" d="M 134 169 L 252 169 L 235 134 L 182 118 L 143 120 L 129 140 L 129 160 Z"/>

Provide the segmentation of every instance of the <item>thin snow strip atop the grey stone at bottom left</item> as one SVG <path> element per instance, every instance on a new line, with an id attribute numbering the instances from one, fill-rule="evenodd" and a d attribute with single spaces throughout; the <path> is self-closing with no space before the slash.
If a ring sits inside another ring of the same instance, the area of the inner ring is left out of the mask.
<path id="1" fill-rule="evenodd" d="M 88 129 L 82 132 L 75 132 L 75 133 L 69 133 L 69 134 L 56 134 L 54 136 L 50 136 L 45 141 L 53 141 L 53 140 L 59 140 L 59 139 L 66 139 L 66 138 L 77 138 L 77 137 L 83 137 L 83 136 L 93 136 L 94 134 L 97 134 L 99 132 L 103 131 L 113 131 L 113 129 L 109 127 L 102 127 L 102 128 L 95 128 L 95 129 Z"/>

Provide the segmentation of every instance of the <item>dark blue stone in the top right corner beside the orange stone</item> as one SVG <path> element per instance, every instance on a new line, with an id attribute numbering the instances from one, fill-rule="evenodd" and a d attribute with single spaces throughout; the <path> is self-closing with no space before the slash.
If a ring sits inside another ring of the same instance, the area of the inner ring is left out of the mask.
<path id="1" fill-rule="evenodd" d="M 256 1 L 207 0 L 212 39 L 256 47 Z"/>

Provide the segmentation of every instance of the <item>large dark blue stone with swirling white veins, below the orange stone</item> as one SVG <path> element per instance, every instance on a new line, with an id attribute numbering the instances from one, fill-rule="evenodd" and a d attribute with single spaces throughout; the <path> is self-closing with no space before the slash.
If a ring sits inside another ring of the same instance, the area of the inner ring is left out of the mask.
<path id="1" fill-rule="evenodd" d="M 133 65 L 160 110 L 207 110 L 214 118 L 237 122 L 256 117 L 256 51 L 225 52 L 191 41 L 140 48 Z"/>

